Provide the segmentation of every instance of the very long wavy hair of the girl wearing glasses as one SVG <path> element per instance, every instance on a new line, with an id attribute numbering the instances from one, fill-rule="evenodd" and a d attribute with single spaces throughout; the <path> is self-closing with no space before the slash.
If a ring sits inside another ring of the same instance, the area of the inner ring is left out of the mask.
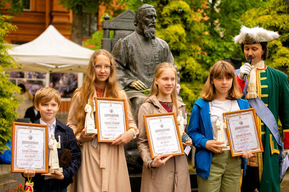
<path id="1" fill-rule="evenodd" d="M 84 76 L 83 84 L 79 89 L 76 89 L 71 97 L 71 102 L 76 98 L 76 94 L 79 95 L 79 105 L 77 106 L 75 113 L 76 115 L 76 120 L 77 120 L 77 131 L 75 132 L 75 135 L 78 133 L 81 133 L 82 129 L 84 129 L 84 124 L 85 124 L 85 117 L 86 117 L 86 112 L 84 111 L 84 108 L 87 104 L 88 99 L 90 99 L 90 105 L 93 108 L 93 102 L 92 100 L 94 92 L 95 92 L 95 61 L 97 59 L 98 55 L 105 55 L 110 59 L 110 65 L 111 71 L 110 75 L 107 79 L 107 84 L 106 84 L 106 97 L 110 98 L 118 98 L 118 91 L 121 90 L 118 85 L 117 85 L 117 76 L 116 76 L 116 61 L 114 60 L 113 55 L 108 52 L 107 50 L 104 49 L 99 49 L 96 50 L 90 57 L 90 61 L 88 63 L 87 69 L 86 69 L 86 74 Z M 93 115 L 93 114 L 92 114 Z M 73 118 L 73 117 L 71 117 Z M 70 119 L 68 119 L 70 120 Z M 67 121 L 68 121 L 67 120 Z"/>

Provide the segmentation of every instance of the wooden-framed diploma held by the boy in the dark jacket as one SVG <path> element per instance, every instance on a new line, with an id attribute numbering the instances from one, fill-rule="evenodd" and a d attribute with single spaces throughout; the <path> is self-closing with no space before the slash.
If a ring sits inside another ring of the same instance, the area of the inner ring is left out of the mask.
<path id="1" fill-rule="evenodd" d="M 11 173 L 48 173 L 48 125 L 12 122 Z"/>

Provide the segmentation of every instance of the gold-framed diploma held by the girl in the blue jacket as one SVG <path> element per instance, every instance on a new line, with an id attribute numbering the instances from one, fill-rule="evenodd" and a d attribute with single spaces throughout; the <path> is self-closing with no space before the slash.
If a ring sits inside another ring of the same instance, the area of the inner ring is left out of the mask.
<path id="1" fill-rule="evenodd" d="M 226 117 L 227 134 L 232 157 L 246 151 L 263 152 L 255 108 L 223 113 Z"/>

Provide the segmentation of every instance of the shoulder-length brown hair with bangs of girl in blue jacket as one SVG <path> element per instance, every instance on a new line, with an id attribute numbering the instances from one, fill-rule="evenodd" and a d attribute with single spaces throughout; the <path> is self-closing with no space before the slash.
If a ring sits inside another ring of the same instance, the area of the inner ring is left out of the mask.
<path id="1" fill-rule="evenodd" d="M 221 75 L 233 78 L 232 87 L 229 90 L 229 97 L 226 99 L 235 100 L 242 97 L 243 94 L 240 91 L 240 87 L 235 76 L 235 68 L 227 61 L 221 60 L 217 61 L 210 69 L 208 79 L 205 82 L 205 85 L 201 92 L 202 99 L 204 99 L 205 101 L 213 101 L 217 98 L 216 88 L 215 85 L 212 84 L 212 82 L 215 78 L 218 78 Z"/>

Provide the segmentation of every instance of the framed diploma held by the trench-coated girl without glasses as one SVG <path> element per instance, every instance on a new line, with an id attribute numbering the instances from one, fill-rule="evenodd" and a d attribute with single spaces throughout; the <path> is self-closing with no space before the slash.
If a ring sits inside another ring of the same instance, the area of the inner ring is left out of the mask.
<path id="1" fill-rule="evenodd" d="M 143 117 L 152 159 L 162 154 L 164 157 L 185 154 L 175 113 L 159 113 Z"/>

